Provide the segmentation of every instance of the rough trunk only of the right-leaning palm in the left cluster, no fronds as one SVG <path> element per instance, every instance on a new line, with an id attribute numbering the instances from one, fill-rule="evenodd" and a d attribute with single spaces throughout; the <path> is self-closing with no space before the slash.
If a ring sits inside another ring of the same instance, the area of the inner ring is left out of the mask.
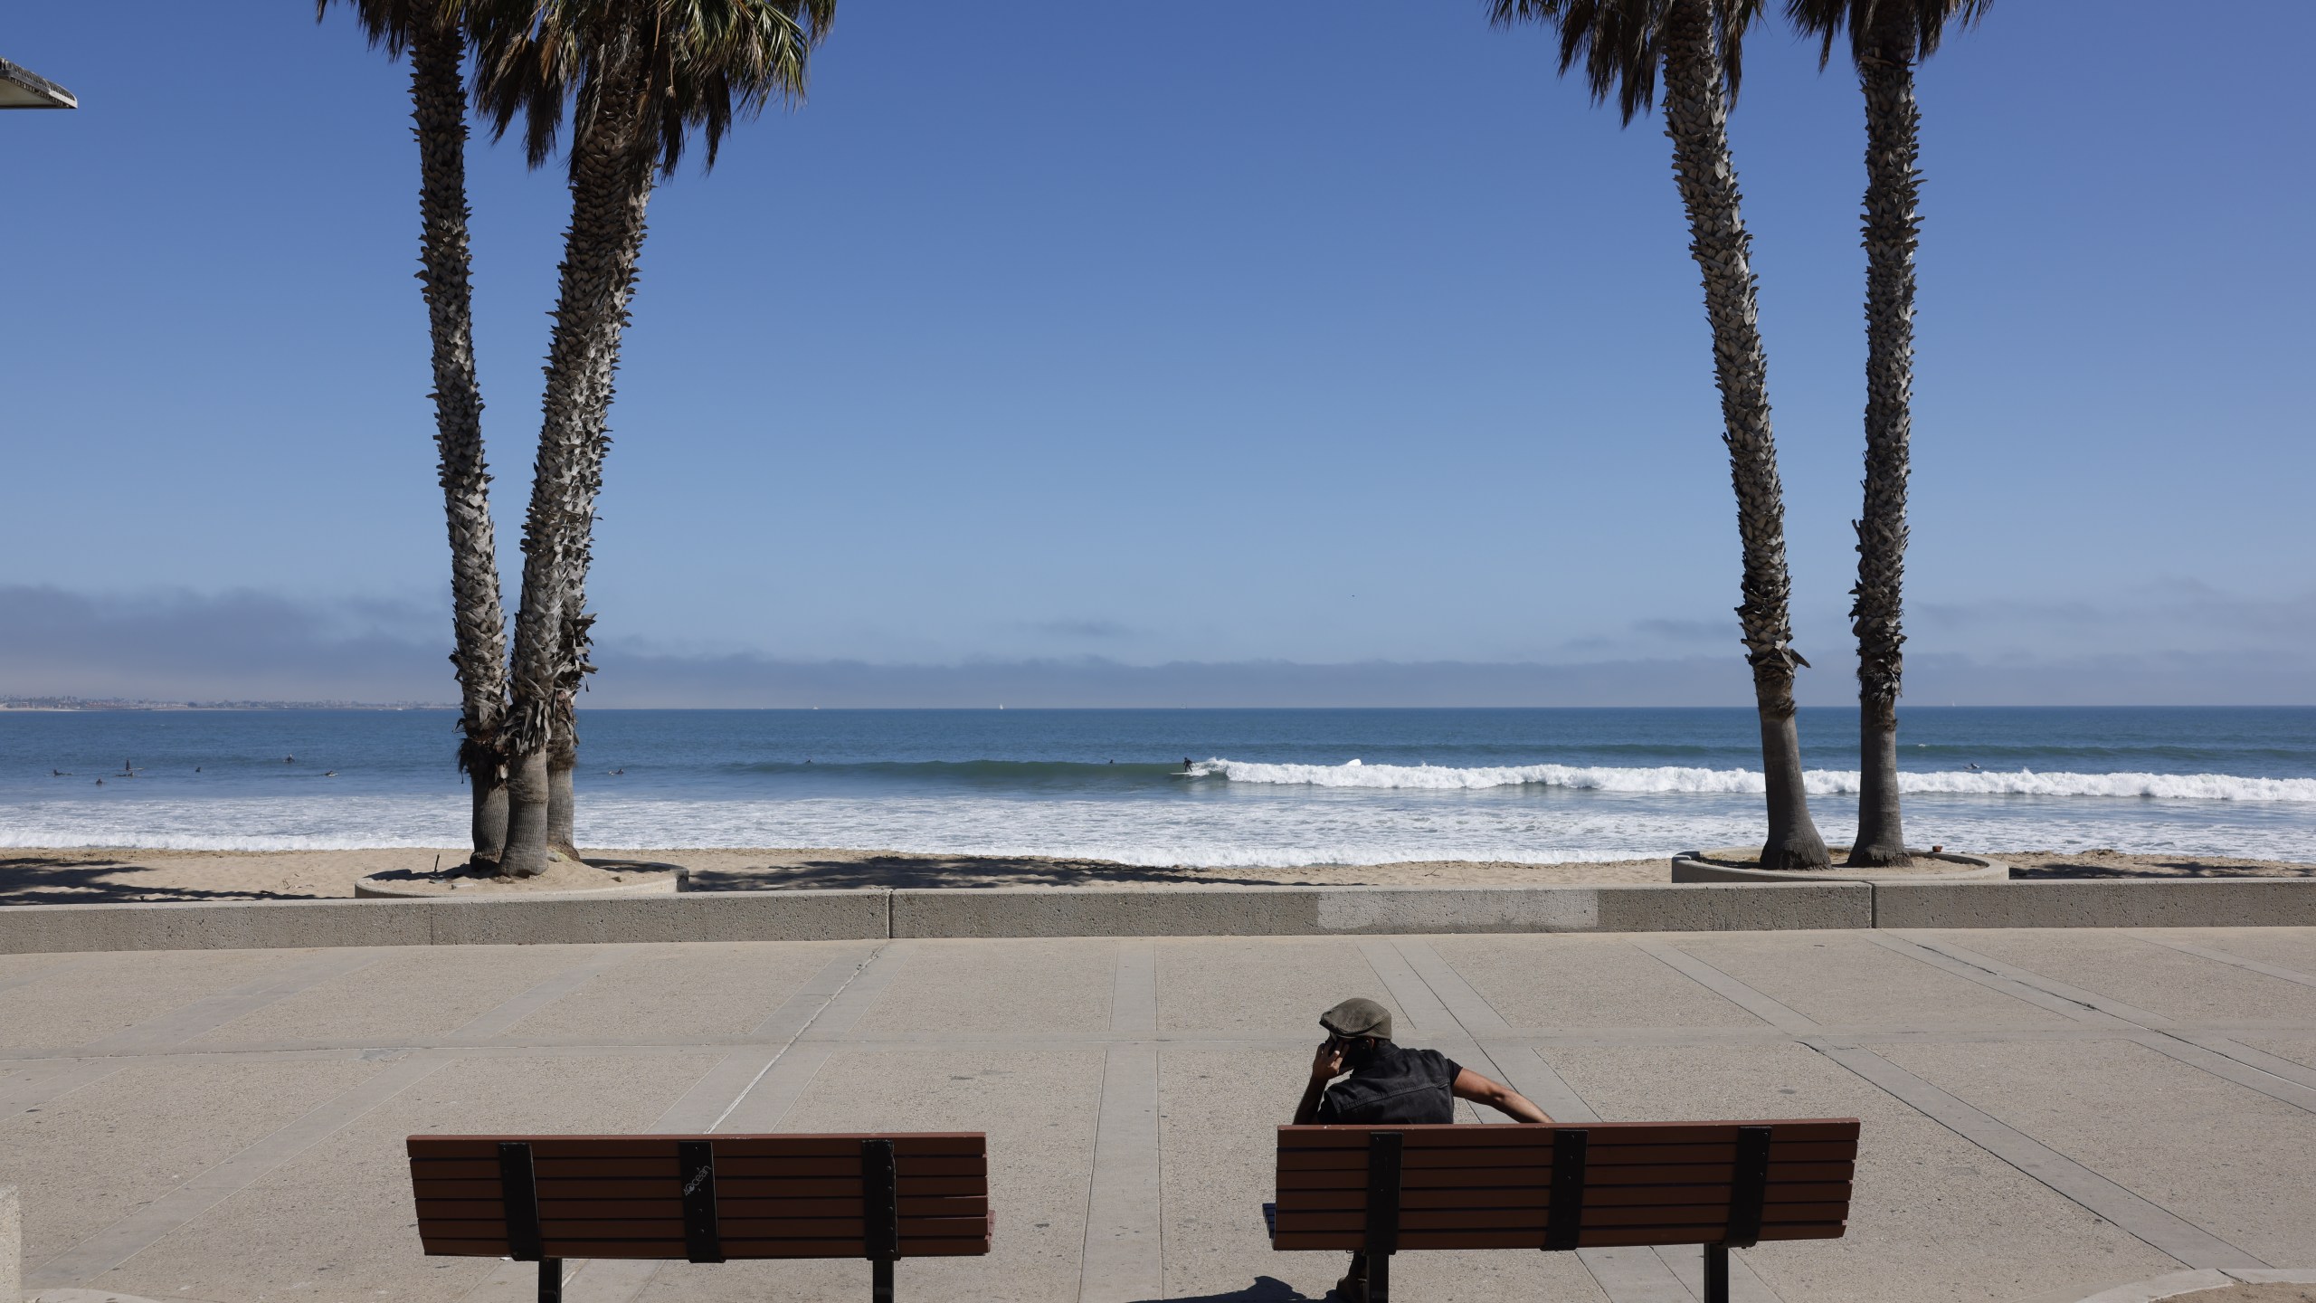
<path id="1" fill-rule="evenodd" d="M 628 46 L 639 53 L 632 32 Z M 514 781 L 500 865 L 512 876 L 547 869 L 554 835 L 549 751 L 556 719 L 567 719 L 572 686 L 586 672 L 584 647 L 570 640 L 570 626 L 581 617 L 572 603 L 586 584 L 595 492 L 609 447 L 609 376 L 628 325 L 651 202 L 653 162 L 639 132 L 639 97 L 625 93 L 639 81 L 637 53 L 607 74 L 600 109 L 572 146 L 572 223 L 563 243 L 540 454 L 523 522 L 523 605 L 514 621 L 505 726 Z"/>

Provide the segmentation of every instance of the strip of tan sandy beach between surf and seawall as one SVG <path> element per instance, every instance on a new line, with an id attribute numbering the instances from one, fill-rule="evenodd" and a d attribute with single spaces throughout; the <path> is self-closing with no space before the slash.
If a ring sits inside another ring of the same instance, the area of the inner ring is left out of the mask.
<path id="1" fill-rule="evenodd" d="M 111 904 L 134 900 L 322 900 L 354 895 L 354 879 L 456 865 L 461 849 L 371 851 L 0 851 L 0 904 Z M 1598 886 L 1668 881 L 1663 858 L 1522 865 L 1503 860 L 1401 860 L 1297 869 L 1137 867 L 1107 860 L 910 856 L 845 849 L 618 849 L 604 858 L 662 860 L 692 872 L 697 890 L 929 888 L 929 886 Z M 2316 865 L 2121 851 L 1992 851 L 2020 879 L 2228 879 L 2316 876 Z"/>

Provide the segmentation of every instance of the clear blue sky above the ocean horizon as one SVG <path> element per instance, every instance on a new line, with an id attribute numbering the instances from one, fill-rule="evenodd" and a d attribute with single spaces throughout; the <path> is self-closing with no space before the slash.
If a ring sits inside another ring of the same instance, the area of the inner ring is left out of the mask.
<path id="1" fill-rule="evenodd" d="M 296 0 L 16 7 L 0 56 L 83 104 L 0 116 L 0 693 L 449 698 L 405 72 Z M 1915 700 L 2316 700 L 2311 114 L 2242 67 L 2073 0 L 1922 70 Z M 1855 81 L 1760 30 L 1732 134 L 1834 703 Z M 1668 165 L 1478 0 L 852 0 L 811 102 L 653 199 L 598 700 L 1026 658 L 1744 700 Z M 470 172 L 512 580 L 565 192 L 514 148 Z"/>

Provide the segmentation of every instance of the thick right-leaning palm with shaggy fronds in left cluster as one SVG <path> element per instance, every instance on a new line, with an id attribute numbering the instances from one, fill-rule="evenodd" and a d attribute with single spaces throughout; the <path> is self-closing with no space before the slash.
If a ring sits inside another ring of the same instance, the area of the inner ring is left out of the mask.
<path id="1" fill-rule="evenodd" d="M 477 102 L 505 134 L 523 118 L 533 167 L 572 118 L 572 220 L 547 352 L 540 452 L 514 619 L 503 872 L 540 874 L 570 846 L 572 698 L 586 663 L 595 494 L 611 445 L 611 378 L 655 174 L 692 132 L 706 165 L 734 118 L 804 95 L 836 0 L 470 0 Z M 556 798 L 560 786 L 563 798 Z M 560 823 L 560 828 L 558 828 Z M 558 846 L 560 842 L 560 846 Z"/>

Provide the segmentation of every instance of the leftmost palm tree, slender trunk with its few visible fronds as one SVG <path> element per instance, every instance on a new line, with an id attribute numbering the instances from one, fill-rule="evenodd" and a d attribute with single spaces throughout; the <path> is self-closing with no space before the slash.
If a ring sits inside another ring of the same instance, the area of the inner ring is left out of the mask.
<path id="1" fill-rule="evenodd" d="M 498 728 L 507 709 L 507 612 L 498 600 L 491 471 L 482 459 L 475 306 L 466 241 L 466 60 L 459 0 L 347 0 L 389 58 L 410 53 L 410 116 L 419 141 L 419 285 L 433 336 L 435 452 L 449 519 L 452 665 L 459 675 L 459 767 L 472 791 L 472 860 L 498 865 L 507 844 L 507 767 Z M 317 0 L 315 19 L 331 0 Z"/>

